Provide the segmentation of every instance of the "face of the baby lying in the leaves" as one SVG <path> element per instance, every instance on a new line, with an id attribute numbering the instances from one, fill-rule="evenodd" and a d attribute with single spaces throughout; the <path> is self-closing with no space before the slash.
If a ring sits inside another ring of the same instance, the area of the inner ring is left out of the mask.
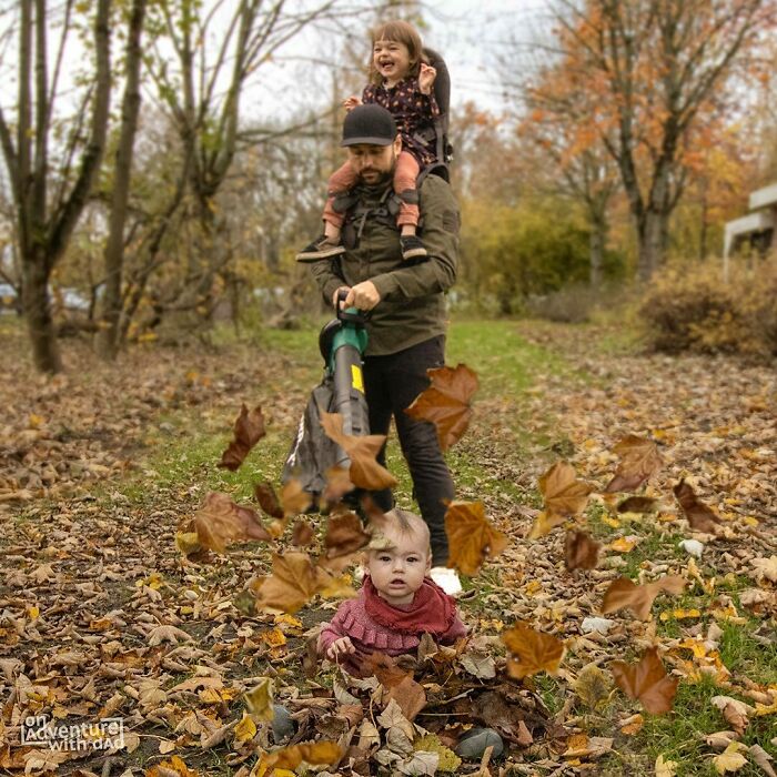
<path id="1" fill-rule="evenodd" d="M 412 534 L 386 533 L 386 549 L 370 551 L 367 569 L 379 595 L 389 604 L 410 604 L 431 567 L 428 552 Z"/>

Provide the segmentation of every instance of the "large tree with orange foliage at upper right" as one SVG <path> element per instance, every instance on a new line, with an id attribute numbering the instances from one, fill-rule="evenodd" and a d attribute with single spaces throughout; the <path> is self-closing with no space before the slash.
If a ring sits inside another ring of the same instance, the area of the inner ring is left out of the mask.
<path id="1" fill-rule="evenodd" d="M 650 278 L 668 242 L 669 216 L 689 178 L 699 138 L 728 103 L 733 75 L 775 24 L 775 0 L 564 0 L 561 59 L 548 83 L 563 82 L 579 131 L 575 155 L 599 145 L 617 164 L 637 233 L 637 273 Z M 754 65 L 755 67 L 755 65 Z M 538 85 L 542 85 L 539 83 Z M 559 88 L 554 87 L 554 90 Z"/>

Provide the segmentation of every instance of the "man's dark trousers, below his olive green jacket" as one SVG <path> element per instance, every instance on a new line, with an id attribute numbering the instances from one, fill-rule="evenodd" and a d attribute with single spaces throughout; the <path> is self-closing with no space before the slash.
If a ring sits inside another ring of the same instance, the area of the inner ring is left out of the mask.
<path id="1" fill-rule="evenodd" d="M 453 500 L 453 478 L 445 464 L 432 423 L 415 421 L 404 411 L 430 384 L 426 370 L 445 364 L 445 337 L 440 335 L 389 356 L 364 360 L 364 391 L 370 406 L 370 432 L 389 434 L 394 416 L 402 454 L 413 480 L 413 496 L 426 522 L 432 542 L 432 565 L 447 563 L 444 500 Z M 385 465 L 385 445 L 377 456 Z M 390 490 L 372 494 L 384 512 L 394 506 Z"/>

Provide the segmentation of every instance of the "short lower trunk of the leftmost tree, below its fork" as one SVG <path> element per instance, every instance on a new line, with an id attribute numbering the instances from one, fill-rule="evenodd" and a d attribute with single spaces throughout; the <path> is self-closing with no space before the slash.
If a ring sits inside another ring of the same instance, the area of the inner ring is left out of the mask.
<path id="1" fill-rule="evenodd" d="M 62 359 L 51 317 L 49 271 L 43 252 L 43 246 L 37 248 L 39 255 L 29 258 L 23 264 L 23 306 L 36 369 L 39 372 L 57 373 L 62 370 Z"/>

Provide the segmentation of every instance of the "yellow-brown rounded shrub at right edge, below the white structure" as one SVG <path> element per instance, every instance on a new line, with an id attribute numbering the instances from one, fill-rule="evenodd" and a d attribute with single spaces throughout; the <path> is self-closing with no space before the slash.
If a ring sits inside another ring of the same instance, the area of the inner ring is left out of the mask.
<path id="1" fill-rule="evenodd" d="M 670 269 L 653 281 L 639 314 L 657 351 L 777 354 L 777 266 Z"/>

